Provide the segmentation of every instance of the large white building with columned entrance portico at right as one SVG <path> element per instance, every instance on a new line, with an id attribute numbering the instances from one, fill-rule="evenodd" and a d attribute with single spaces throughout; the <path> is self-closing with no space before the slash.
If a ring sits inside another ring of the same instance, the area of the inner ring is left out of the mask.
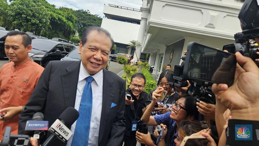
<path id="1" fill-rule="evenodd" d="M 242 3 L 234 0 L 143 0 L 137 53 L 150 53 L 149 64 L 158 76 L 167 64 L 180 64 L 189 42 L 222 49 L 241 32 Z M 172 61 L 169 61 L 173 52 Z"/>

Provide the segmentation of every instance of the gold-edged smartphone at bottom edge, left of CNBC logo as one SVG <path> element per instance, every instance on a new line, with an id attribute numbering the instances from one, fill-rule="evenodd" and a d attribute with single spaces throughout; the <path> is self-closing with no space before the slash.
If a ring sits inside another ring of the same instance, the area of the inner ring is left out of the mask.
<path id="1" fill-rule="evenodd" d="M 208 142 L 204 136 L 185 136 L 180 146 L 207 146 Z"/>

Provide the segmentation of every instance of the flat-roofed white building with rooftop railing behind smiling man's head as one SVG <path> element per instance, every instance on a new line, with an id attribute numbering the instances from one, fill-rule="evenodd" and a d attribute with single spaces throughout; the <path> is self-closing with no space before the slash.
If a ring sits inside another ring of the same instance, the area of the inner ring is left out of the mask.
<path id="1" fill-rule="evenodd" d="M 129 41 L 137 40 L 140 29 L 142 12 L 140 9 L 128 8 L 119 5 L 104 5 L 101 27 L 108 30 L 117 45 L 113 53 L 127 53 L 134 55 L 134 49 L 127 48 Z M 138 55 L 138 57 L 140 57 Z M 146 54 L 141 54 L 141 61 L 145 61 Z"/>

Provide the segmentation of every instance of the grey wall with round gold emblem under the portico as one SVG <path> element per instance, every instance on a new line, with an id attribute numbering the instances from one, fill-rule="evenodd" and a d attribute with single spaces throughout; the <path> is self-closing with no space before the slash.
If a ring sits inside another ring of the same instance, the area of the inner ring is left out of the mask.
<path id="1" fill-rule="evenodd" d="M 184 41 L 185 39 L 182 39 L 174 44 L 167 46 L 165 50 L 163 69 L 166 68 L 167 64 L 170 64 L 172 66 L 172 70 L 174 70 L 174 65 L 179 65 L 180 58 L 182 58 L 182 49 L 184 46 Z M 171 63 L 169 63 L 169 57 L 172 50 L 174 50 L 173 59 Z"/>

